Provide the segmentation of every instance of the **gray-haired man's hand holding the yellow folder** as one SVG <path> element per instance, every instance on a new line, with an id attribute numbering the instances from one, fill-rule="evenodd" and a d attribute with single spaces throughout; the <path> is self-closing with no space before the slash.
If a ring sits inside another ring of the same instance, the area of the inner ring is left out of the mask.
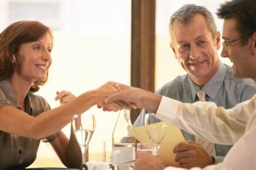
<path id="1" fill-rule="evenodd" d="M 179 143 L 174 147 L 174 153 L 177 153 L 175 162 L 178 162 L 182 168 L 200 167 L 214 164 L 212 156 L 209 156 L 203 146 L 196 142 L 188 141 Z"/>

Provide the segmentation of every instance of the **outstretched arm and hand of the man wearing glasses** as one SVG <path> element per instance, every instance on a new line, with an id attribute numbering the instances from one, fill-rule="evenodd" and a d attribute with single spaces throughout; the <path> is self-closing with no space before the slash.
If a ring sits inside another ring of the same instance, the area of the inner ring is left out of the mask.
<path id="1" fill-rule="evenodd" d="M 181 103 L 124 84 L 118 83 L 115 86 L 119 92 L 108 96 L 106 103 L 124 100 L 135 104 L 136 107 L 133 108 L 145 108 L 152 113 L 157 112 L 157 118 L 177 125 L 188 133 L 225 145 L 235 143 L 244 134 L 246 122 L 256 105 L 256 96 L 254 96 L 250 103 L 245 101 L 232 109 L 225 110 L 211 102 Z"/>

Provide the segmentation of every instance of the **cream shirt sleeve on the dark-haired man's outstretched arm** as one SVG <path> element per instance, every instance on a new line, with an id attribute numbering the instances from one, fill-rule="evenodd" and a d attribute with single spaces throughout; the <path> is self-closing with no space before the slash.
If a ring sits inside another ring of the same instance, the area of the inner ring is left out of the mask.
<path id="1" fill-rule="evenodd" d="M 244 134 L 246 122 L 255 108 L 254 102 L 248 103 L 245 101 L 226 110 L 211 102 L 188 104 L 163 96 L 156 117 L 208 141 L 232 145 Z"/>

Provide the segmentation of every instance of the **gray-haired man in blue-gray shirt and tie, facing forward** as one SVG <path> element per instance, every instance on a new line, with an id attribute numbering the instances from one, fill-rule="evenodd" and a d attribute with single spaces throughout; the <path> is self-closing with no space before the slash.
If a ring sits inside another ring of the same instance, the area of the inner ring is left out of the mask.
<path id="1" fill-rule="evenodd" d="M 187 74 L 166 83 L 156 94 L 183 103 L 212 101 L 226 109 L 255 94 L 253 80 L 232 78 L 231 67 L 219 60 L 220 33 L 207 8 L 192 4 L 182 6 L 171 16 L 169 28 L 171 49 Z M 142 111 L 133 126 L 143 126 L 148 113 Z M 160 121 L 151 115 L 150 119 Z M 174 152 L 177 153 L 175 161 L 183 168 L 203 168 L 222 162 L 232 147 L 213 145 L 184 130 L 182 133 L 188 142 L 177 145 Z"/>

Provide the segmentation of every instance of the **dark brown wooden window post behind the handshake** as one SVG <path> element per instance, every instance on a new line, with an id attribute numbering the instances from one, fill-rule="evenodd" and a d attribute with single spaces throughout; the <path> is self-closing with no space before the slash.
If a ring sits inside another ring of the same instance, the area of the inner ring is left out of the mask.
<path id="1" fill-rule="evenodd" d="M 131 85 L 154 91 L 156 0 L 132 0 Z M 134 122 L 140 110 L 132 110 Z"/>

